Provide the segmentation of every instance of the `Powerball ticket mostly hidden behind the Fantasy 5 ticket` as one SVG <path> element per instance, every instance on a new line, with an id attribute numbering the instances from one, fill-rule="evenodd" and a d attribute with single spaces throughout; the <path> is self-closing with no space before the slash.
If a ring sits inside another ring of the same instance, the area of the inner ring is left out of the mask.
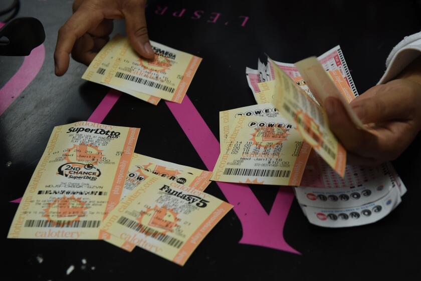
<path id="1" fill-rule="evenodd" d="M 160 177 L 175 181 L 180 185 L 203 191 L 210 183 L 212 172 L 166 162 L 141 154 L 133 154 L 130 169 L 124 183 L 122 198 L 147 179 L 150 172 Z"/>

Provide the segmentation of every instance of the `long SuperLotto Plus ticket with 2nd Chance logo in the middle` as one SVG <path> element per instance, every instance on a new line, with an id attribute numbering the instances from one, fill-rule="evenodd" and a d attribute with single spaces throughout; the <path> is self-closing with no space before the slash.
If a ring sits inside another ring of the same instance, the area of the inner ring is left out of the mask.
<path id="1" fill-rule="evenodd" d="M 88 121 L 54 127 L 8 237 L 98 239 L 120 201 L 138 134 Z"/>

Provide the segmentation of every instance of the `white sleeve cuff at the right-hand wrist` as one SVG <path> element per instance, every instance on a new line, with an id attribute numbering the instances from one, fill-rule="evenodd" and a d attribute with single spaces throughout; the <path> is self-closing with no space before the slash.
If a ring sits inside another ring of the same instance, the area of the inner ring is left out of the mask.
<path id="1" fill-rule="evenodd" d="M 421 32 L 405 37 L 397 44 L 386 59 L 386 71 L 377 84 L 392 80 L 406 66 L 421 55 Z"/>

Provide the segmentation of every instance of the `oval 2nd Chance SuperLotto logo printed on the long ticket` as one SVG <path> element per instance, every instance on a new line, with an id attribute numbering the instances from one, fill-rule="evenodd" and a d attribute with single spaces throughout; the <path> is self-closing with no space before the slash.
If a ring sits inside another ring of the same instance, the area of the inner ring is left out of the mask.
<path id="1" fill-rule="evenodd" d="M 93 164 L 66 163 L 59 167 L 57 174 L 69 179 L 96 181 L 101 171 Z"/>

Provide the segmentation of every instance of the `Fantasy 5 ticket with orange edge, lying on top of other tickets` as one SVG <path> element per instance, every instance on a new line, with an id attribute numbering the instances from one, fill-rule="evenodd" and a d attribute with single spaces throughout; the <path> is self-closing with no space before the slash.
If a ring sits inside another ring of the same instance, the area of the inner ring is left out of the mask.
<path id="1" fill-rule="evenodd" d="M 102 231 L 184 265 L 232 205 L 151 175 L 107 216 Z"/>

